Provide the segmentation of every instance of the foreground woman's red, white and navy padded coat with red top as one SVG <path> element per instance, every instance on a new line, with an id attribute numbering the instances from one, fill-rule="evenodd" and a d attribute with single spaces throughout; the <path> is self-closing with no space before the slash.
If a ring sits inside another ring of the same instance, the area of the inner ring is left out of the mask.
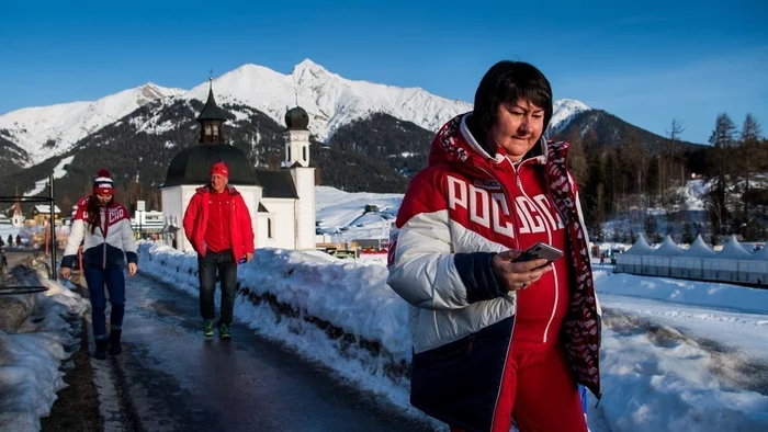
<path id="1" fill-rule="evenodd" d="M 387 282 L 410 304 L 411 403 L 466 431 L 509 431 L 517 340 L 560 343 L 576 380 L 600 396 L 599 306 L 569 145 L 542 140 L 516 169 L 488 155 L 465 120 L 440 129 L 410 182 Z M 501 291 L 494 254 L 537 241 L 566 255 L 530 289 Z"/>

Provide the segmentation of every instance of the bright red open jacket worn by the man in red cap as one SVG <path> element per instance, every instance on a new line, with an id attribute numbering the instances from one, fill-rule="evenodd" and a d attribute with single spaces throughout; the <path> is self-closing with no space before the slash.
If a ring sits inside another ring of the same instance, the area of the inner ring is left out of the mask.
<path id="1" fill-rule="evenodd" d="M 253 253 L 253 226 L 242 195 L 233 186 L 228 186 L 228 189 L 231 203 L 229 236 L 234 259 L 237 262 L 246 253 Z M 184 213 L 184 234 L 194 251 L 201 255 L 205 255 L 206 252 L 204 239 L 205 228 L 208 224 L 210 194 L 211 186 L 199 187 Z"/>

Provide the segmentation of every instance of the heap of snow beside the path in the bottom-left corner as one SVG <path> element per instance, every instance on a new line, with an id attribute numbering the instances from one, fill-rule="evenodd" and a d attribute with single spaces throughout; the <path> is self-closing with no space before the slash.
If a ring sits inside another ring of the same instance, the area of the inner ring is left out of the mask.
<path id="1" fill-rule="evenodd" d="M 16 333 L 0 330 L 0 430 L 38 431 L 56 393 L 67 385 L 61 362 L 77 350 L 79 329 L 67 321 L 88 308 L 88 300 L 39 273 L 22 281 L 47 292 L 30 294 L 35 307 Z M 0 314 L 2 311 L 0 310 Z"/>

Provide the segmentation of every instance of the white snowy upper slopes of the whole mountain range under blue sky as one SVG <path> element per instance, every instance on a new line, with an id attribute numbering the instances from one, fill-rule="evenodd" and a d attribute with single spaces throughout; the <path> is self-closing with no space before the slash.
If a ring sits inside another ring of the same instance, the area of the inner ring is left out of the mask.
<path id="1" fill-rule="evenodd" d="M 242 104 L 263 112 L 279 124 L 286 110 L 298 104 L 309 114 L 309 128 L 327 140 L 341 126 L 372 113 L 386 113 L 437 130 L 456 114 L 472 110 L 472 104 L 428 93 L 420 88 L 398 88 L 353 81 L 332 73 L 309 59 L 296 65 L 290 75 L 263 66 L 244 65 L 213 81 L 216 100 Z M 46 107 L 23 109 L 0 116 L 0 130 L 7 129 L 11 141 L 29 152 L 26 166 L 60 155 L 80 138 L 114 123 L 137 107 L 159 99 L 171 104 L 179 99 L 205 101 L 208 82 L 189 90 L 167 89 L 148 83 L 125 90 L 95 102 L 74 102 Z M 567 123 L 578 112 L 589 110 L 578 101 L 555 102 L 552 127 Z M 235 111 L 236 116 L 245 116 Z M 177 125 L 154 121 L 139 130 L 163 132 Z"/>

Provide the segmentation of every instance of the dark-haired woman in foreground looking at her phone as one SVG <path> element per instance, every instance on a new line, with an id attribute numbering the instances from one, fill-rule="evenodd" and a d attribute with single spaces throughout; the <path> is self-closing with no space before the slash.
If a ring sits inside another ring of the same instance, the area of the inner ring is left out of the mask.
<path id="1" fill-rule="evenodd" d="M 567 143 L 543 138 L 552 89 L 500 61 L 411 181 L 388 284 L 410 306 L 411 403 L 452 430 L 587 431 L 600 397 L 599 306 Z M 515 262 L 537 242 L 564 257 Z"/>

